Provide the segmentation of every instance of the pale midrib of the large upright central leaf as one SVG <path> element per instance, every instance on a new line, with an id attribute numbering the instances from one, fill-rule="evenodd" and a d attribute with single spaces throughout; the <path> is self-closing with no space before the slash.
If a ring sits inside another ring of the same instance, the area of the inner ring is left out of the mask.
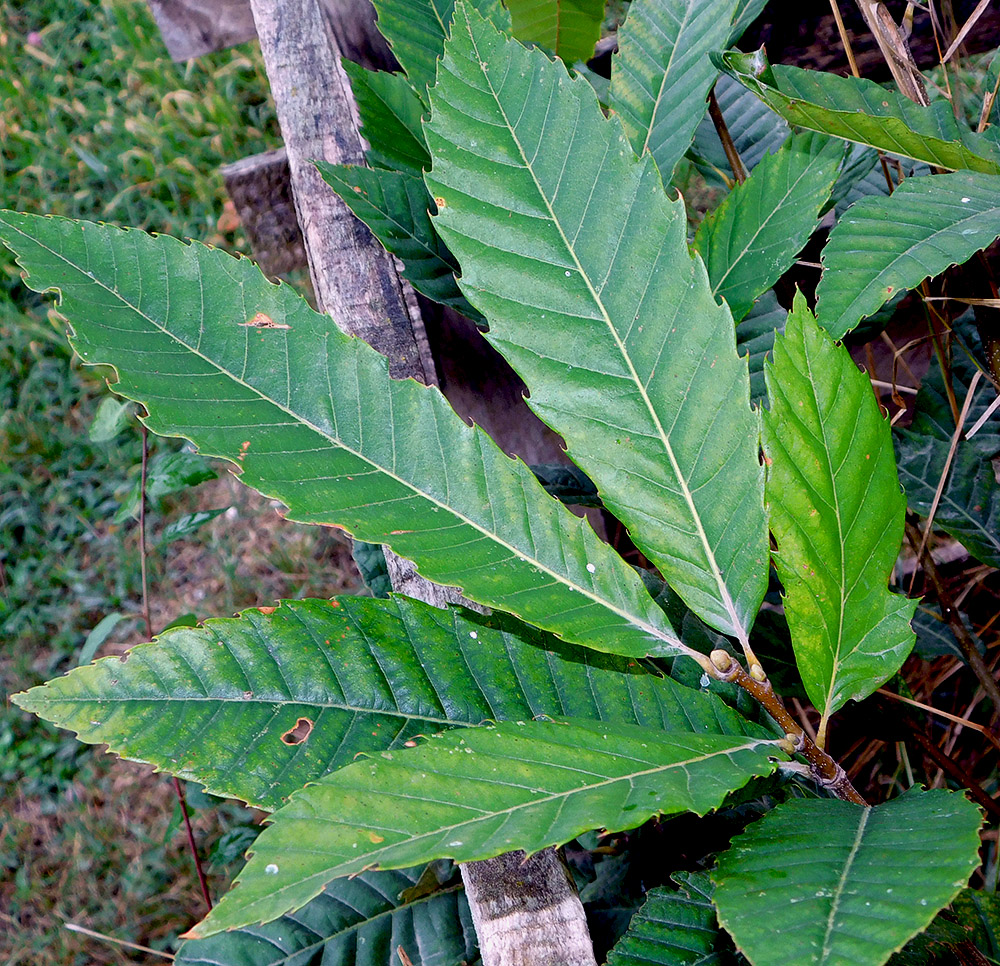
<path id="1" fill-rule="evenodd" d="M 479 59 L 479 62 L 485 63 L 486 61 L 479 50 L 479 45 L 476 42 L 475 34 L 471 30 L 471 28 L 469 29 L 469 38 L 472 43 L 472 48 L 476 52 L 476 55 Z M 507 125 L 507 129 L 510 132 L 511 140 L 516 145 L 518 153 L 520 154 L 522 161 L 524 162 L 524 168 L 530 175 L 531 180 L 534 182 L 535 187 L 538 190 L 538 196 L 539 198 L 542 199 L 542 202 L 545 205 L 545 209 L 549 214 L 549 220 L 555 226 L 556 231 L 558 231 L 560 239 L 566 246 L 566 251 L 569 253 L 573 261 L 573 264 L 576 266 L 576 270 L 580 273 L 580 277 L 584 280 L 584 283 L 587 286 L 587 290 L 590 292 L 594 304 L 597 306 L 597 308 L 601 313 L 601 318 L 604 320 L 604 323 L 607 326 L 608 331 L 611 334 L 611 337 L 614 339 L 615 345 L 618 347 L 618 351 L 620 352 L 622 359 L 624 360 L 626 366 L 628 367 L 628 371 L 631 376 L 632 382 L 637 387 L 642 397 L 642 401 L 645 404 L 646 409 L 653 420 L 656 432 L 659 435 L 660 441 L 663 444 L 663 448 L 667 453 L 668 459 L 670 460 L 670 467 L 673 470 L 674 476 L 677 478 L 678 483 L 680 484 L 681 494 L 684 498 L 684 502 L 687 504 L 688 510 L 690 511 L 691 517 L 694 521 L 694 525 L 698 533 L 698 539 L 701 543 L 702 550 L 705 553 L 706 560 L 708 561 L 709 572 L 714 578 L 716 587 L 718 588 L 719 591 L 720 600 L 723 604 L 723 607 L 726 610 L 726 613 L 729 615 L 729 619 L 733 629 L 736 632 L 737 639 L 739 640 L 741 645 L 746 647 L 749 645 L 749 638 L 743 627 L 743 622 L 740 620 L 739 612 L 737 611 L 736 606 L 733 603 L 732 596 L 729 593 L 729 588 L 726 586 L 725 581 L 722 579 L 721 568 L 719 567 L 715 559 L 715 553 L 712 550 L 710 541 L 708 540 L 708 535 L 705 533 L 705 528 L 702 525 L 701 514 L 698 512 L 698 508 L 691 495 L 691 490 L 688 487 L 688 481 L 687 479 L 685 479 L 683 473 L 680 470 L 680 466 L 674 454 L 673 446 L 670 443 L 670 438 L 668 434 L 664 431 L 663 425 L 660 422 L 659 415 L 657 414 L 656 409 L 649 398 L 649 393 L 646 391 L 646 386 L 639 378 L 639 374 L 636 372 L 635 366 L 632 364 L 632 358 L 626 351 L 625 344 L 622 342 L 621 337 L 618 334 L 618 331 L 615 329 L 615 326 L 611 321 L 611 317 L 608 314 L 608 310 L 605 307 L 604 302 L 600 297 L 600 294 L 598 293 L 597 289 L 594 288 L 594 285 L 588 273 L 584 271 L 583 265 L 580 263 L 580 260 L 577 257 L 575 247 L 570 243 L 566 234 L 563 232 L 562 225 L 559 223 L 559 220 L 555 217 L 555 212 L 552 209 L 552 205 L 549 198 L 546 196 L 545 192 L 542 191 L 542 187 L 539 184 L 538 179 L 535 177 L 535 172 L 530 162 L 528 161 L 527 153 L 524 151 L 524 148 L 520 140 L 518 139 L 517 134 L 514 131 L 514 127 L 507 116 L 507 112 L 504 110 L 503 104 L 500 102 L 500 98 L 497 96 L 497 92 L 493 85 L 493 80 L 489 75 L 489 72 L 484 70 L 482 71 L 482 74 L 487 86 L 489 87 L 490 94 L 492 95 L 494 101 L 496 102 L 497 109 L 500 111 L 500 114 L 502 115 L 504 122 Z"/>

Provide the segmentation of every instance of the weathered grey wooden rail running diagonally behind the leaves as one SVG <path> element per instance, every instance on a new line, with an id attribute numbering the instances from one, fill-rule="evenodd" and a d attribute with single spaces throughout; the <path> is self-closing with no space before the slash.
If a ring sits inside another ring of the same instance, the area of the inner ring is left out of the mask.
<path id="1" fill-rule="evenodd" d="M 309 163 L 361 161 L 334 33 L 318 0 L 252 0 L 252 7 L 319 304 L 387 355 L 394 375 L 433 382 L 433 360 L 418 351 L 423 340 L 414 335 L 420 321 L 406 311 L 392 260 Z M 394 586 L 440 601 L 442 588 L 407 561 L 390 566 Z M 462 867 L 485 966 L 596 966 L 583 907 L 555 851 L 528 864 L 522 858 L 514 853 Z"/>

